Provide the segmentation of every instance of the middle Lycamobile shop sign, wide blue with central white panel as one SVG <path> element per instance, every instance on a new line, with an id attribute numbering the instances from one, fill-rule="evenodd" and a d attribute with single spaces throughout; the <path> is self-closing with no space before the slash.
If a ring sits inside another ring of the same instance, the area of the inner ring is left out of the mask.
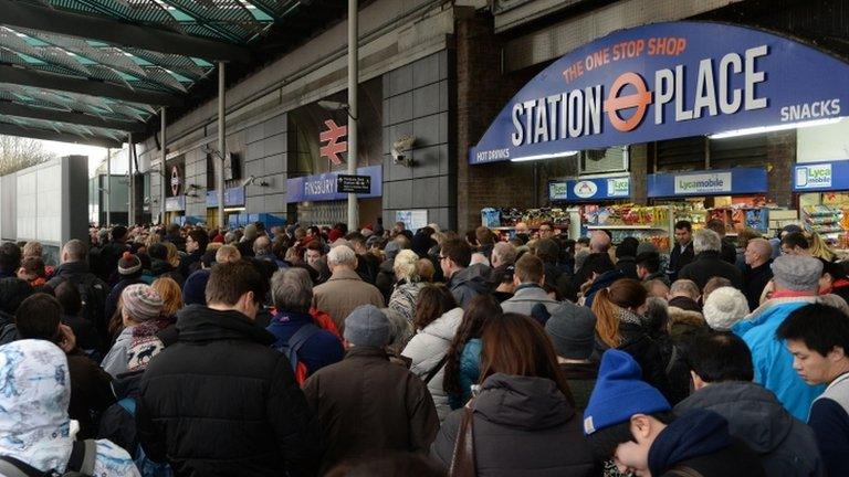
<path id="1" fill-rule="evenodd" d="M 766 169 L 734 168 L 647 176 L 649 198 L 742 195 L 767 190 Z"/>

